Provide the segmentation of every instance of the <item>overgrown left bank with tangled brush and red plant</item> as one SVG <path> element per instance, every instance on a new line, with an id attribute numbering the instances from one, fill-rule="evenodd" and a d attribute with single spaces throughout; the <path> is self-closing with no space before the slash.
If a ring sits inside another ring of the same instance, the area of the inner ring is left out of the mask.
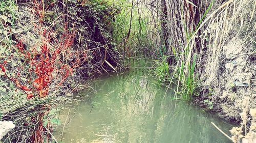
<path id="1" fill-rule="evenodd" d="M 54 108 L 87 88 L 85 79 L 122 68 L 106 36 L 111 11 L 98 2 L 1 1 L 0 117 L 16 126 L 3 142 L 52 141 Z"/>

